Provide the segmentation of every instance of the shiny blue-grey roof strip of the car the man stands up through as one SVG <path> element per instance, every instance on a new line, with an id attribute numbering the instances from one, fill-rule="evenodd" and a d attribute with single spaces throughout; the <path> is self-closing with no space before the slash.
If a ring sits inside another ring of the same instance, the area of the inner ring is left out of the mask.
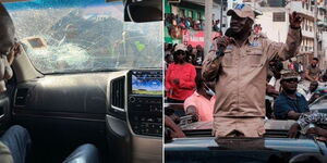
<path id="1" fill-rule="evenodd" d="M 169 150 L 278 150 L 319 153 L 320 143 L 312 139 L 291 138 L 177 138 L 166 143 Z M 326 150 L 326 146 L 323 146 Z"/>

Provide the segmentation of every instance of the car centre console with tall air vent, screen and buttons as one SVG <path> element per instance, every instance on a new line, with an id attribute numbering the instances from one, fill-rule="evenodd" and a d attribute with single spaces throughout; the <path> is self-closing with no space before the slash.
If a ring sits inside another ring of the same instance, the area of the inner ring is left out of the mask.
<path id="1" fill-rule="evenodd" d="M 162 70 L 112 72 L 107 87 L 107 138 L 116 161 L 162 160 Z"/>

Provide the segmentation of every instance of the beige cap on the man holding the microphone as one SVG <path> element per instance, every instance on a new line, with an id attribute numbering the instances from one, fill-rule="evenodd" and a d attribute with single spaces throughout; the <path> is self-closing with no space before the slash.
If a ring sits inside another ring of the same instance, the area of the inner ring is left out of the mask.
<path id="1" fill-rule="evenodd" d="M 227 12 L 227 15 L 231 16 L 233 14 L 237 14 L 238 16 L 240 17 L 249 17 L 251 18 L 253 22 L 254 22 L 254 11 L 251 9 L 250 5 L 246 5 L 246 4 L 237 4 L 234 9 L 230 9 L 228 12 Z"/>

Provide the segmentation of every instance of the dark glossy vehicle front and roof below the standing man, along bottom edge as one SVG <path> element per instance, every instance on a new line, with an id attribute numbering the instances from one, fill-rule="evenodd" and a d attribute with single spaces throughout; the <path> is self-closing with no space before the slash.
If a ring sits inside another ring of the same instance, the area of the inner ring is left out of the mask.
<path id="1" fill-rule="evenodd" d="M 165 143 L 166 162 L 289 162 L 295 155 L 326 155 L 326 145 L 291 138 L 177 138 Z"/>

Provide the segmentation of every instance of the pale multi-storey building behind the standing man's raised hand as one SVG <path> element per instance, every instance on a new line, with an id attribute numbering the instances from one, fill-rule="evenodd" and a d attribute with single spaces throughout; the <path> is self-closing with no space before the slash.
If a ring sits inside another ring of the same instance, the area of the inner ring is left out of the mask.
<path id="1" fill-rule="evenodd" d="M 277 5 L 279 4 L 279 5 Z M 276 7 L 277 5 L 277 7 Z M 314 3 L 310 0 L 289 0 L 275 2 L 274 7 L 269 5 L 269 1 L 259 7 L 263 15 L 257 16 L 256 23 L 263 27 L 263 33 L 269 39 L 284 42 L 289 27 L 289 14 L 296 11 L 302 17 L 302 35 L 300 52 L 296 55 L 298 62 L 302 62 L 304 66 L 310 64 L 314 58 L 314 38 L 317 38 L 317 54 L 320 60 L 320 68 L 327 66 L 326 47 L 324 41 L 327 41 L 326 35 L 323 35 L 327 28 L 327 10 L 325 1 L 320 0 L 317 5 L 317 36 L 314 34 Z"/>

